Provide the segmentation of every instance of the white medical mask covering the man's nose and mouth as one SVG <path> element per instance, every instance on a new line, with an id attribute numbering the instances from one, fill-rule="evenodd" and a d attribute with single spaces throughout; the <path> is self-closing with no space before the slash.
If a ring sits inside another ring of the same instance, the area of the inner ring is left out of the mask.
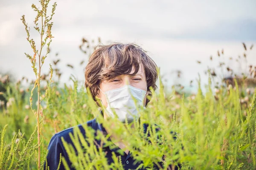
<path id="1" fill-rule="evenodd" d="M 100 88 L 99 90 L 102 91 Z M 128 123 L 131 123 L 134 117 L 135 119 L 140 117 L 137 107 L 143 106 L 145 108 L 143 103 L 146 91 L 140 88 L 125 85 L 122 88 L 116 88 L 105 93 L 102 91 L 102 93 L 105 94 L 108 102 L 108 107 L 105 108 L 108 116 L 114 117 L 115 112 L 118 119 L 123 123 L 125 123 L 125 119 L 127 119 Z"/>

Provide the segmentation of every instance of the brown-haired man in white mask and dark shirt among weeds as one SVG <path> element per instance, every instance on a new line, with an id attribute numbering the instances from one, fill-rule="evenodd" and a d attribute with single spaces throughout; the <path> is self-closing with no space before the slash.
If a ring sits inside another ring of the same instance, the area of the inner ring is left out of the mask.
<path id="1" fill-rule="evenodd" d="M 142 48 L 134 44 L 115 43 L 99 46 L 90 56 L 84 75 L 85 87 L 90 90 L 97 104 L 103 106 L 104 119 L 117 116 L 120 122 L 131 123 L 134 118 L 138 119 L 134 99 L 141 107 L 146 107 L 149 102 L 147 95 L 151 95 L 149 87 L 154 90 L 157 88 L 157 65 Z M 87 126 L 105 134 L 111 130 L 102 127 L 96 119 L 87 122 Z M 79 129 L 86 136 L 81 125 Z M 66 142 L 72 143 L 69 133 L 73 133 L 73 128 L 55 134 L 49 143 L 47 163 L 51 170 L 57 169 L 60 153 L 72 168 L 61 142 L 63 137 Z M 122 139 L 116 139 L 115 136 L 110 136 L 110 139 L 124 154 L 120 155 L 117 149 L 105 147 L 109 163 L 113 162 L 111 153 L 114 151 L 117 156 L 121 156 L 125 170 L 136 169 L 140 163 L 134 164 L 134 159 L 129 150 L 125 150 Z"/>

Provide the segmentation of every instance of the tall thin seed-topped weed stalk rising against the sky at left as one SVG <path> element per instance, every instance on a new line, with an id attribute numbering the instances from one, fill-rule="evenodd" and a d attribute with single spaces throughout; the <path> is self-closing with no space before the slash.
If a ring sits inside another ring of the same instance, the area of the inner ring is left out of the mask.
<path id="1" fill-rule="evenodd" d="M 32 91 L 31 91 L 31 96 L 30 96 L 30 107 L 33 111 L 33 113 L 35 113 L 35 116 L 36 116 L 36 119 L 37 119 L 37 127 L 38 127 L 38 169 L 40 168 L 40 161 L 41 161 L 41 152 L 40 152 L 40 133 L 41 133 L 41 127 L 40 127 L 40 116 L 42 117 L 43 116 L 43 108 L 42 106 L 40 105 L 41 104 L 41 101 L 47 96 L 47 92 L 48 92 L 48 89 L 49 89 L 49 85 L 51 83 L 51 79 L 52 79 L 52 66 L 50 65 L 50 70 L 51 70 L 51 76 L 49 78 L 49 83 L 48 83 L 48 87 L 45 91 L 45 94 L 41 95 L 40 93 L 40 81 L 41 81 L 41 78 L 42 78 L 42 75 L 41 75 L 41 69 L 42 69 L 42 66 L 44 64 L 44 60 L 47 58 L 47 55 L 49 54 L 49 46 L 52 42 L 52 25 L 53 23 L 51 22 L 52 21 L 52 16 L 54 15 L 54 11 L 55 11 L 55 8 L 57 6 L 56 3 L 54 3 L 52 5 L 52 12 L 49 16 L 47 16 L 47 9 L 48 9 L 48 4 L 49 4 L 49 1 L 50 0 L 41 0 L 39 1 L 40 2 L 40 5 L 41 5 L 41 8 L 35 6 L 35 4 L 32 4 L 32 9 L 34 11 L 37 12 L 37 15 L 35 17 L 35 20 L 34 20 L 34 28 L 36 31 L 38 31 L 40 37 L 41 37 L 41 42 L 40 42 L 40 47 L 37 48 L 36 45 L 35 45 L 35 40 L 33 40 L 32 38 L 30 38 L 30 28 L 28 27 L 27 23 L 26 23 L 26 20 L 25 20 L 25 16 L 23 15 L 21 20 L 22 20 L 22 23 L 23 25 L 25 26 L 25 30 L 26 30 L 26 33 L 27 33 L 27 41 L 29 42 L 32 50 L 33 50 L 33 57 L 27 53 L 25 53 L 26 57 L 29 58 L 31 64 L 32 64 L 32 68 L 33 68 L 33 71 L 35 73 L 35 84 L 34 84 L 34 87 L 32 88 Z M 40 24 L 39 24 L 40 23 Z M 46 45 L 46 48 L 47 48 L 47 52 L 45 55 L 43 55 L 43 49 L 44 49 L 44 46 Z M 37 63 L 36 63 L 36 58 L 38 58 L 38 67 L 36 66 Z M 35 88 L 38 88 L 38 102 L 37 102 L 37 111 L 35 111 L 33 108 L 32 108 L 32 96 L 33 96 L 33 91 L 35 90 Z"/>

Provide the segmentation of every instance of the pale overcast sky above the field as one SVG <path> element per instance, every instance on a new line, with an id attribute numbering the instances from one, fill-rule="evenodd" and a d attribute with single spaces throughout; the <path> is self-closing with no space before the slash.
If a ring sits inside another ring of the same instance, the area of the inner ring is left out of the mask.
<path id="1" fill-rule="evenodd" d="M 81 38 L 101 37 L 102 42 L 134 42 L 142 46 L 169 84 L 177 82 L 171 72 L 183 71 L 180 80 L 188 84 L 198 77 L 217 51 L 236 58 L 243 54 L 241 42 L 256 44 L 256 0 L 56 0 L 51 50 L 46 64 L 58 52 L 63 72 L 62 82 L 70 74 L 84 80 L 81 60 L 88 56 L 79 51 Z M 0 0 L 0 71 L 11 71 L 17 79 L 34 78 L 31 63 L 24 52 L 32 54 L 26 31 L 20 21 L 23 14 L 30 28 L 34 25 L 36 0 Z M 32 30 L 32 29 L 31 29 Z M 31 33 L 35 40 L 39 34 Z M 248 53 L 249 63 L 256 65 L 256 48 Z M 198 65 L 200 60 L 203 65 Z M 72 64 L 74 69 L 65 65 Z M 237 67 L 236 62 L 230 62 Z M 48 65 L 44 70 L 48 71 Z M 207 79 L 203 81 L 207 82 Z"/>

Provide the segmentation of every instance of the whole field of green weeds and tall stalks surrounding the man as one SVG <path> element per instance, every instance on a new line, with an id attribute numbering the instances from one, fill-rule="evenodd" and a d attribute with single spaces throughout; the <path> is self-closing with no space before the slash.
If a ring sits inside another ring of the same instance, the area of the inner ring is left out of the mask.
<path id="1" fill-rule="evenodd" d="M 249 65 L 248 73 L 235 75 L 232 68 L 220 62 L 220 69 L 227 70 L 230 78 L 224 79 L 223 74 L 218 77 L 218 68 L 208 68 L 208 85 L 202 86 L 199 77 L 196 94 L 184 93 L 182 85 L 166 87 L 160 77 L 159 90 L 157 93 L 152 90 L 151 101 L 146 109 L 140 110 L 140 122 L 135 122 L 135 127 L 119 124 L 115 119 L 105 122 L 100 114 L 101 109 L 81 82 L 72 76 L 71 85 L 58 82 L 61 76 L 58 60 L 53 61 L 54 68 L 43 65 L 44 59 L 48 59 L 50 42 L 53 40 L 51 20 L 56 4 L 48 9 L 49 0 L 40 2 L 40 8 L 32 5 L 37 13 L 34 28 L 41 37 L 39 47 L 29 36 L 32 28 L 27 26 L 25 17 L 21 19 L 28 34 L 28 45 L 33 51 L 32 55 L 26 54 L 26 57 L 32 63 L 35 80 L 29 82 L 23 77 L 15 81 L 9 75 L 0 75 L 1 170 L 44 169 L 51 137 L 94 117 L 103 126 L 114 125 L 113 133 L 127 142 L 134 159 L 143 161 L 140 167 L 168 169 L 169 164 L 172 167 L 180 164 L 184 170 L 256 169 L 254 66 Z M 49 16 L 47 9 L 52 10 Z M 82 45 L 87 46 L 88 41 L 83 39 Z M 248 48 L 243 43 L 243 46 L 243 58 L 246 59 L 253 45 Z M 216 59 L 223 56 L 224 50 L 218 51 Z M 41 70 L 49 70 L 49 74 L 41 74 Z M 223 81 L 217 83 L 217 79 Z M 172 91 L 168 93 L 166 89 Z M 143 123 L 148 124 L 146 133 L 141 130 Z M 114 163 L 108 164 L 102 146 L 94 144 L 92 136 L 95 132 L 85 124 L 83 127 L 87 138 L 84 139 L 76 128 L 72 137 L 75 149 L 63 141 L 74 168 L 123 169 L 122 161 L 114 153 Z M 98 138 L 111 145 L 101 133 Z M 65 159 L 61 159 L 60 163 L 69 169 Z"/>

